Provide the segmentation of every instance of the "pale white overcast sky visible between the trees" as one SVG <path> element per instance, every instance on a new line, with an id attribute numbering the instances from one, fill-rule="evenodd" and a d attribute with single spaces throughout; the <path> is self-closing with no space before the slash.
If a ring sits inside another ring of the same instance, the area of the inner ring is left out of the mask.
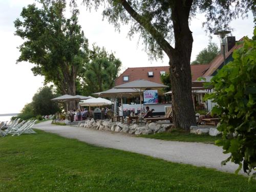
<path id="1" fill-rule="evenodd" d="M 33 95 L 38 88 L 43 86 L 44 77 L 34 76 L 29 62 L 16 64 L 19 57 L 17 47 L 23 40 L 14 35 L 13 22 L 19 17 L 23 7 L 34 3 L 33 0 L 0 0 L 0 114 L 18 113 L 26 103 L 32 101 Z M 106 50 L 115 52 L 115 56 L 122 61 L 122 71 L 129 67 L 153 67 L 167 66 L 168 59 L 149 61 L 147 54 L 143 51 L 143 45 L 138 42 L 138 36 L 131 40 L 127 38 L 129 26 L 121 26 L 121 32 L 115 31 L 113 25 L 107 20 L 102 20 L 101 12 L 92 10 L 89 12 L 86 7 L 80 7 L 79 24 L 82 26 L 84 35 L 89 39 L 90 45 L 94 42 Z M 190 30 L 193 32 L 193 51 L 191 61 L 196 55 L 207 47 L 209 38 L 202 29 L 203 15 L 196 15 L 191 20 Z M 250 13 L 247 19 L 237 19 L 231 22 L 234 29 L 232 32 L 236 39 L 243 36 L 252 36 L 253 16 Z M 213 36 L 212 42 L 220 44 L 219 38 Z"/>

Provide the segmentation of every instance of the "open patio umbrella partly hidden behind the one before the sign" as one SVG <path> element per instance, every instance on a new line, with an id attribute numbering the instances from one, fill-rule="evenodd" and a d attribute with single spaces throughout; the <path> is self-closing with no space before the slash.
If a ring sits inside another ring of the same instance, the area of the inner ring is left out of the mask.
<path id="1" fill-rule="evenodd" d="M 111 97 L 114 98 L 114 115 L 116 116 L 116 97 L 121 97 L 121 108 L 123 110 L 123 100 L 122 97 L 124 96 L 132 96 L 138 94 L 138 91 L 134 89 L 115 89 L 112 88 L 110 90 L 93 93 L 93 95 L 98 95 L 101 97 Z"/>

